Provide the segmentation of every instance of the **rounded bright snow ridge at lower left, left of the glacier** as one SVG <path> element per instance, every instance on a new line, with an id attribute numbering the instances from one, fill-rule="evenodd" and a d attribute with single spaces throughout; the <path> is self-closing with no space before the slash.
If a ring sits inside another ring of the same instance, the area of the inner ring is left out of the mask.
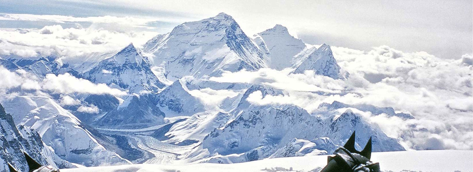
<path id="1" fill-rule="evenodd" d="M 48 97 L 16 96 L 4 105 L 15 123 L 35 129 L 44 143 L 64 160 L 85 166 L 129 163 L 105 150 L 74 115 Z"/>

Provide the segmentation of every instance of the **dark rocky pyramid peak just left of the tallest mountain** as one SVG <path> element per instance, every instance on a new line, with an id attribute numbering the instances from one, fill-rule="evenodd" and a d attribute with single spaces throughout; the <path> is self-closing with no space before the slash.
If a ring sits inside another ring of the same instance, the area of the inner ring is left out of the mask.
<path id="1" fill-rule="evenodd" d="M 84 73 L 84 77 L 95 83 L 116 84 L 134 93 L 156 93 L 165 86 L 132 43 L 114 56 L 98 62 Z"/>

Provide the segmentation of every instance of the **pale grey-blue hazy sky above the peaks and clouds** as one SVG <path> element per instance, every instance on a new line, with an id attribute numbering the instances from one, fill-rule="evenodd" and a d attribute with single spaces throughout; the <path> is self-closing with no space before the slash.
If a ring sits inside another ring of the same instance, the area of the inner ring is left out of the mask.
<path id="1" fill-rule="evenodd" d="M 472 1 L 162 1 L 143 0 L 3 0 L 0 13 L 73 17 L 145 18 L 134 31 L 169 32 L 185 21 L 225 12 L 248 35 L 275 24 L 305 43 L 328 43 L 359 50 L 388 45 L 404 52 L 425 51 L 440 58 L 459 59 L 472 53 Z M 0 15 L 1 17 L 1 15 Z M 42 28 L 49 25 L 88 27 L 96 21 L 0 20 L 1 28 Z M 110 25 L 109 25 L 110 26 Z M 106 26 L 108 27 L 108 26 Z M 114 27 L 114 26 L 110 26 Z M 121 30 L 124 31 L 124 30 Z"/>

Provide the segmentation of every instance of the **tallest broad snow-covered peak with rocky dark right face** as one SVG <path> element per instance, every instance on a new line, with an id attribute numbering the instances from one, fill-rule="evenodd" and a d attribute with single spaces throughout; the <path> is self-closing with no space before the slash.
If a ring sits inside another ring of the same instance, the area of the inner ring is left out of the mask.
<path id="1" fill-rule="evenodd" d="M 187 75 L 201 78 L 219 75 L 222 70 L 267 67 L 266 56 L 225 13 L 185 22 L 168 34 L 152 38 L 144 47 L 151 47 L 144 52 L 153 54 L 150 60 L 154 65 L 164 64 L 164 75 L 171 81 Z"/>

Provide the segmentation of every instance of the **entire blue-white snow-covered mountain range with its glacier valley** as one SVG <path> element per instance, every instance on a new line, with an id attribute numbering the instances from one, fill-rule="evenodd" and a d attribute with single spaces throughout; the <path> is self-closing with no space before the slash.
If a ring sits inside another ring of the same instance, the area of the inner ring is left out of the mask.
<path id="1" fill-rule="evenodd" d="M 126 94 L 19 88 L 2 93 L 8 95 L 0 102 L 9 113 L 0 109 L 0 141 L 11 144 L 0 152 L 0 171 L 12 161 L 26 171 L 19 160 L 20 149 L 41 163 L 60 168 L 144 162 L 240 163 L 327 155 L 354 130 L 359 145 L 372 137 L 376 152 L 403 151 L 399 140 L 387 136 L 359 112 L 414 118 L 392 107 L 370 104 L 334 101 L 308 111 L 294 104 L 255 103 L 255 95 L 263 100 L 292 93 L 264 81 L 212 80 L 263 68 L 287 70 L 288 75 L 313 71 L 333 80 L 350 77 L 337 64 L 329 45 L 307 46 L 281 25 L 249 37 L 225 13 L 185 22 L 151 38 L 143 49 L 129 44 L 109 57 L 89 58 L 81 64 L 69 65 L 64 59 L 11 55 L 1 57 L 0 64 L 38 80 L 46 74 L 70 73 Z"/>

